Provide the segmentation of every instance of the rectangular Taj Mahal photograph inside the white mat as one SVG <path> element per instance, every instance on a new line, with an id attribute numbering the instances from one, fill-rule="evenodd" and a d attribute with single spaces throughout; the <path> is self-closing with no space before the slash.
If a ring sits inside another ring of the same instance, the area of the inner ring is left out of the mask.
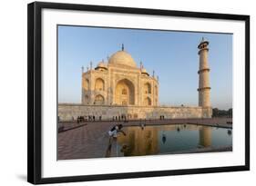
<path id="1" fill-rule="evenodd" d="M 57 161 L 232 152 L 233 34 L 58 24 Z"/>

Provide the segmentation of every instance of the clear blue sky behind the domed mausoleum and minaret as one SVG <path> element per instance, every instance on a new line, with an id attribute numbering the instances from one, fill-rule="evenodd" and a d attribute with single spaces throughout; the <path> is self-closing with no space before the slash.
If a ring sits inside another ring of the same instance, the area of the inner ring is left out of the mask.
<path id="1" fill-rule="evenodd" d="M 198 44 L 210 42 L 212 107 L 232 107 L 232 34 L 58 26 L 58 102 L 81 102 L 81 66 L 95 67 L 125 45 L 139 66 L 159 75 L 159 103 L 197 105 Z"/>

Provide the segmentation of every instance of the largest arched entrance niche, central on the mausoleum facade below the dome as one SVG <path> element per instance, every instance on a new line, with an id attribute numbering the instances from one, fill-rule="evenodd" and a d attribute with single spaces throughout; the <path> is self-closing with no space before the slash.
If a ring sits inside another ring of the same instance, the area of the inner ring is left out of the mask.
<path id="1" fill-rule="evenodd" d="M 134 84 L 128 79 L 122 79 L 117 83 L 115 90 L 115 103 L 118 105 L 135 104 Z"/>

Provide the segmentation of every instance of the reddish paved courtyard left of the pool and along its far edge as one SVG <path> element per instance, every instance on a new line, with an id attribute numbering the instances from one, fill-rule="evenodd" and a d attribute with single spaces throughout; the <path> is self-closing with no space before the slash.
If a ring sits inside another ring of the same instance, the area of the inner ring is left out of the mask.
<path id="1" fill-rule="evenodd" d="M 232 119 L 177 119 L 146 121 L 146 124 L 198 123 L 231 128 L 232 124 L 227 123 L 231 121 Z M 58 160 L 114 157 L 117 155 L 117 144 L 115 141 L 109 142 L 108 137 L 112 126 L 118 123 L 132 126 L 143 122 L 145 121 L 63 123 L 64 132 L 57 135 Z"/>

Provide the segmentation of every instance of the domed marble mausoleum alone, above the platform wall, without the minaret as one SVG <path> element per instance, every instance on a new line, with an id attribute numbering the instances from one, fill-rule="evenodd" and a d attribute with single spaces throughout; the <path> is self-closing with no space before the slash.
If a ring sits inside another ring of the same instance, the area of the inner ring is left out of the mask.
<path id="1" fill-rule="evenodd" d="M 122 49 L 108 64 L 99 62 L 82 74 L 82 103 L 87 105 L 159 105 L 159 81 Z"/>

